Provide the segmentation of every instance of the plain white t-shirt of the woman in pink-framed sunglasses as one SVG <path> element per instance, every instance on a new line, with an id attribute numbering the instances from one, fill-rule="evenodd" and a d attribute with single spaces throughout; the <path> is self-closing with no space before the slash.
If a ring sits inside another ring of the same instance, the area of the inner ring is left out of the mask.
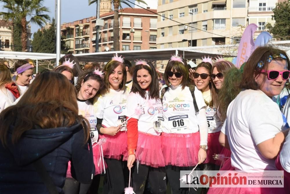
<path id="1" fill-rule="evenodd" d="M 265 158 L 257 145 L 284 130 L 278 105 L 260 90 L 243 90 L 230 103 L 223 128 L 236 170 L 277 170 L 274 159 Z"/>

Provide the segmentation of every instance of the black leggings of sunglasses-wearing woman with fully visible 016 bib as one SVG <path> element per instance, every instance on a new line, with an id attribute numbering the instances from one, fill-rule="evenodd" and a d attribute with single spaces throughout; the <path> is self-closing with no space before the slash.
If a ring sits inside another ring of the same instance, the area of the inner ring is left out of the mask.
<path id="1" fill-rule="evenodd" d="M 168 165 L 165 166 L 166 175 L 168 178 L 168 182 L 170 184 L 172 194 L 196 194 L 197 191 L 194 188 L 180 188 L 180 170 L 192 170 L 194 166 L 186 166 L 186 167 L 179 167 L 179 166 L 172 166 Z M 200 170 L 197 166 L 196 170 Z"/>

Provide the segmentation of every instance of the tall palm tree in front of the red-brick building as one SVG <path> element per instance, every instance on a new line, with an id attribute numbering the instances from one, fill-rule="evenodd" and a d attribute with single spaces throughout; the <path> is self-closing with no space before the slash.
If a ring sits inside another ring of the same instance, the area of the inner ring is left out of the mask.
<path id="1" fill-rule="evenodd" d="M 114 51 L 119 51 L 120 50 L 120 40 L 119 40 L 119 7 L 121 9 L 121 3 L 124 3 L 125 5 L 129 6 L 132 8 L 130 2 L 128 0 L 111 0 L 114 6 L 114 22 L 113 22 L 113 33 L 114 33 Z M 145 3 L 147 5 L 147 3 L 143 0 L 135 0 L 137 2 L 140 3 Z M 89 0 L 89 5 L 91 5 L 92 3 L 96 3 L 97 0 Z"/>

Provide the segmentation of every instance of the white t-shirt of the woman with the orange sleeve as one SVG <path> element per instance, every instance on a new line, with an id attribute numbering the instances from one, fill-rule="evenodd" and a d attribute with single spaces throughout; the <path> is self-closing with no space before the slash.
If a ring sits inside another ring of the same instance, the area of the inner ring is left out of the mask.
<path id="1" fill-rule="evenodd" d="M 128 96 L 126 116 L 138 119 L 138 131 L 159 136 L 162 132 L 162 103 L 160 99 L 146 99 L 139 93 L 131 92 Z"/>

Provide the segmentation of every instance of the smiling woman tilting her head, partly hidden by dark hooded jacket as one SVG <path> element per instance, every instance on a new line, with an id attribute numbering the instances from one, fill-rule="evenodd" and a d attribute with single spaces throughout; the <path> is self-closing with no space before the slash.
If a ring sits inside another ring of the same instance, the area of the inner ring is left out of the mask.
<path id="1" fill-rule="evenodd" d="M 61 68 L 61 67 L 59 67 Z M 81 184 L 73 179 L 71 175 L 70 162 L 68 163 L 68 171 L 66 174 L 66 182 L 64 185 L 65 193 L 76 193 L 76 194 L 86 194 L 91 184 L 92 187 L 99 185 L 99 177 L 102 171 L 104 171 L 103 164 L 98 165 L 98 161 L 101 157 L 99 146 L 97 145 L 98 131 L 96 130 L 97 119 L 96 112 L 93 107 L 93 100 L 96 95 L 104 94 L 106 91 L 106 86 L 103 80 L 103 73 L 99 70 L 95 71 L 85 71 L 79 74 L 78 82 L 76 85 L 77 89 L 77 105 L 79 110 L 79 115 L 84 116 L 90 124 L 90 137 L 93 145 L 93 155 L 95 164 L 95 176 L 93 183 Z M 98 180 L 97 182 L 95 180 Z"/>

